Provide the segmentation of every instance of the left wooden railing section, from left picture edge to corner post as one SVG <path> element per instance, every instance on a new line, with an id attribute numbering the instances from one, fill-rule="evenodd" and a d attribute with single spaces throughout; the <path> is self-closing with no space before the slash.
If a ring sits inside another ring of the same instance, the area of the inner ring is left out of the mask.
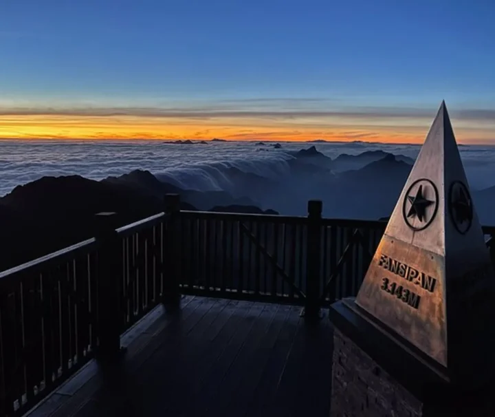
<path id="1" fill-rule="evenodd" d="M 100 213 L 96 237 L 0 273 L 0 416 L 17 416 L 120 334 L 173 301 L 168 215 L 115 231 Z"/>

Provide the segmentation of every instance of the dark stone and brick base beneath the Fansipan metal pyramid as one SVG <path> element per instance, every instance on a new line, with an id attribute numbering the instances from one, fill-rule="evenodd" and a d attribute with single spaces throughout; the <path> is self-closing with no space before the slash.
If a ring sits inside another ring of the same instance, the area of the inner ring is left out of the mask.
<path id="1" fill-rule="evenodd" d="M 454 386 L 369 321 L 352 299 L 334 303 L 329 315 L 335 326 L 331 417 L 495 416 L 493 385 Z"/>

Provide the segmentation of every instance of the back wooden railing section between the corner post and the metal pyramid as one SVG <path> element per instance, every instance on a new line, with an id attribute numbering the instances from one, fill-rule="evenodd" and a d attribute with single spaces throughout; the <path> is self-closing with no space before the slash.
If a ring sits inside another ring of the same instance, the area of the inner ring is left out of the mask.
<path id="1" fill-rule="evenodd" d="M 386 226 L 321 219 L 318 211 L 313 217 L 182 211 L 179 224 L 182 292 L 301 306 L 355 295 Z"/>

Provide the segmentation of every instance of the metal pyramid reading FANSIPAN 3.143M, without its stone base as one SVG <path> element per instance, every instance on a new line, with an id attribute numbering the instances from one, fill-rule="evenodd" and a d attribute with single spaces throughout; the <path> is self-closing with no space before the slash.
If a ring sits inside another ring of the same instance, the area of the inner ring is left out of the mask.
<path id="1" fill-rule="evenodd" d="M 452 378 L 475 378 L 495 350 L 494 284 L 442 102 L 355 302 Z"/>

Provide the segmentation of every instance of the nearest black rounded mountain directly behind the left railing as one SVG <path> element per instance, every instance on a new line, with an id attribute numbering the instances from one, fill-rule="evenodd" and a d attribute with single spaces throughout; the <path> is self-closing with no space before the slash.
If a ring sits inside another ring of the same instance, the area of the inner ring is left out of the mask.
<path id="1" fill-rule="evenodd" d="M 163 206 L 135 189 L 78 175 L 44 177 L 17 186 L 0 204 L 15 213 L 14 221 L 0 218 L 2 270 L 88 239 L 94 234 L 95 213 L 115 211 L 118 226 L 123 226 L 158 213 Z"/>

